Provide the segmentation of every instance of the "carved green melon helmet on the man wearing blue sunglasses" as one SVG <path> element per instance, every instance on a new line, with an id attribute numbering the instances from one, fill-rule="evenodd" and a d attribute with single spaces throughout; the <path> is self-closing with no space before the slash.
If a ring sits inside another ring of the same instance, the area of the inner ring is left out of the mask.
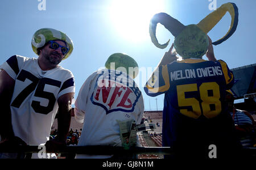
<path id="1" fill-rule="evenodd" d="M 31 45 L 33 51 L 38 54 L 38 48 L 43 47 L 47 42 L 51 40 L 61 40 L 67 43 L 69 49 L 68 53 L 65 55 L 64 59 L 67 59 L 73 51 L 73 42 L 72 40 L 63 32 L 52 29 L 52 28 L 42 28 L 35 32 L 32 37 Z"/>

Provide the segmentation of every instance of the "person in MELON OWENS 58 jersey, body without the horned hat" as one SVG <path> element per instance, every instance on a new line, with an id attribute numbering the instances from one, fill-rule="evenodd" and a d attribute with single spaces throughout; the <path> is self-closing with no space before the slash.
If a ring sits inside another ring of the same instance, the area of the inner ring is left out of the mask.
<path id="1" fill-rule="evenodd" d="M 216 60 L 212 41 L 209 37 L 208 40 L 205 55 L 209 61 L 191 56 L 177 61 L 172 44 L 144 87 L 148 96 L 165 95 L 163 147 L 172 147 L 175 157 L 207 159 L 210 144 L 217 147 L 218 158 L 240 154 L 241 144 L 225 103 L 225 90 L 234 84 L 233 73 L 224 61 Z M 179 77 L 208 68 L 216 68 L 218 73 Z M 176 78 L 175 73 L 179 74 Z"/>

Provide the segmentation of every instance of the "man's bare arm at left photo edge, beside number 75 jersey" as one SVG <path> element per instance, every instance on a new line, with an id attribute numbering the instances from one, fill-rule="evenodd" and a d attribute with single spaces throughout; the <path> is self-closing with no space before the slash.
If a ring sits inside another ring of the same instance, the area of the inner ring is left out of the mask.
<path id="1" fill-rule="evenodd" d="M 14 137 L 13 126 L 11 125 L 11 110 L 10 102 L 13 96 L 15 80 L 9 74 L 0 69 L 0 103 L 1 103 L 1 118 L 0 118 L 0 134 L 2 141 L 9 140 Z"/>

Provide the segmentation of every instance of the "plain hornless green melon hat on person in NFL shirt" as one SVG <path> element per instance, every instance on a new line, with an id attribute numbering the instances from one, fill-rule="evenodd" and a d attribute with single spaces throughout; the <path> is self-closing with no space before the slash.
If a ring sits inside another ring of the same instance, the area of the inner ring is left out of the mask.
<path id="1" fill-rule="evenodd" d="M 107 69 L 126 72 L 131 78 L 137 77 L 139 68 L 137 62 L 124 53 L 113 53 L 105 63 Z M 130 71 L 129 71 L 130 70 Z"/>

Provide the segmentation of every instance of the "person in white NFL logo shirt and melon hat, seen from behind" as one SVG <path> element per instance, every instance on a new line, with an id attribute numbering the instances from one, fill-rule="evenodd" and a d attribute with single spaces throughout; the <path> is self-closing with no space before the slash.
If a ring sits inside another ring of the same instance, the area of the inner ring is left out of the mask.
<path id="1" fill-rule="evenodd" d="M 138 71 L 138 64 L 130 56 L 114 53 L 107 60 L 106 68 L 109 68 L 110 60 L 117 61 L 113 63 L 115 67 L 110 67 L 114 69 L 94 72 L 77 96 L 75 118 L 84 123 L 78 146 L 122 146 L 117 120 L 133 119 L 137 125 L 141 123 L 143 97 L 133 80 L 138 72 L 126 74 L 129 67 L 137 67 Z M 119 69 L 121 67 L 123 69 Z M 76 158 L 109 157 L 111 155 L 76 155 Z"/>

